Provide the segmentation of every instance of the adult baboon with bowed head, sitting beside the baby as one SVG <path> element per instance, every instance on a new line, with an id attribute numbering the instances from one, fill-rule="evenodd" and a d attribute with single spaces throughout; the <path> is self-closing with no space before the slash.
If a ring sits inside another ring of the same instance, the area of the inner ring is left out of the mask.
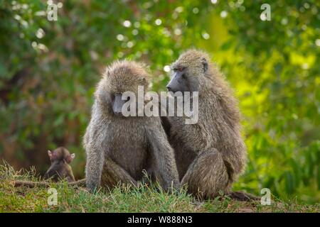
<path id="1" fill-rule="evenodd" d="M 137 62 L 117 61 L 107 68 L 95 91 L 92 116 L 83 144 L 87 154 L 87 189 L 100 183 L 113 187 L 137 185 L 146 170 L 164 189 L 178 187 L 178 172 L 159 117 L 122 114 L 124 92 L 137 97 L 138 86 L 147 89 L 149 77 Z"/>

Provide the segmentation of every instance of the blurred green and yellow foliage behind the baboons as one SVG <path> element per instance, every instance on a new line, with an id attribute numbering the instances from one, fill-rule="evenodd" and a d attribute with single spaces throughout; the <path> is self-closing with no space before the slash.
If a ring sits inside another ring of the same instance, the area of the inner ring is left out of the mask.
<path id="1" fill-rule="evenodd" d="M 260 20 L 264 1 L 62 2 L 48 21 L 46 1 L 0 0 L 0 157 L 43 172 L 46 150 L 64 145 L 82 177 L 105 65 L 145 62 L 159 91 L 165 66 L 196 47 L 240 99 L 249 160 L 235 189 L 320 201 L 319 2 L 272 1 L 271 21 Z"/>

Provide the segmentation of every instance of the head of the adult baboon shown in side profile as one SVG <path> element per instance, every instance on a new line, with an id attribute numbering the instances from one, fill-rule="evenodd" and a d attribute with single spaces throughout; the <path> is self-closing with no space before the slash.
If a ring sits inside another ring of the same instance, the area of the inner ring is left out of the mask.
<path id="1" fill-rule="evenodd" d="M 166 88 L 169 92 L 198 92 L 201 81 L 208 76 L 209 59 L 199 50 L 184 52 L 171 65 L 171 81 Z"/>

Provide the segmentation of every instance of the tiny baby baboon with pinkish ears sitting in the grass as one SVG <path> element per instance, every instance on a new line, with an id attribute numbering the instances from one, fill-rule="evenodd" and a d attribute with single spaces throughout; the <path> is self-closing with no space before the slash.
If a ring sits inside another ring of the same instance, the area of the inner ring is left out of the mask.
<path id="1" fill-rule="evenodd" d="M 54 180 L 63 179 L 73 175 L 70 162 L 75 158 L 75 154 L 70 154 L 66 148 L 60 147 L 53 151 L 48 150 L 51 165 L 46 172 L 45 178 L 52 177 Z"/>

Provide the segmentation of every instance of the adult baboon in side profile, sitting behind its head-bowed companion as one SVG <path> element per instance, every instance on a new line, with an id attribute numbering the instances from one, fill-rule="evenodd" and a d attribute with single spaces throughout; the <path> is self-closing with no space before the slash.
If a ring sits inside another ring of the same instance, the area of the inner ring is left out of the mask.
<path id="1" fill-rule="evenodd" d="M 240 135 L 238 101 L 205 52 L 188 50 L 171 67 L 169 92 L 198 93 L 198 123 L 167 118 L 169 141 L 175 150 L 181 185 L 208 199 L 229 194 L 245 169 L 246 148 Z M 193 110 L 194 111 L 194 110 Z M 238 196 L 238 194 L 235 194 Z"/>

